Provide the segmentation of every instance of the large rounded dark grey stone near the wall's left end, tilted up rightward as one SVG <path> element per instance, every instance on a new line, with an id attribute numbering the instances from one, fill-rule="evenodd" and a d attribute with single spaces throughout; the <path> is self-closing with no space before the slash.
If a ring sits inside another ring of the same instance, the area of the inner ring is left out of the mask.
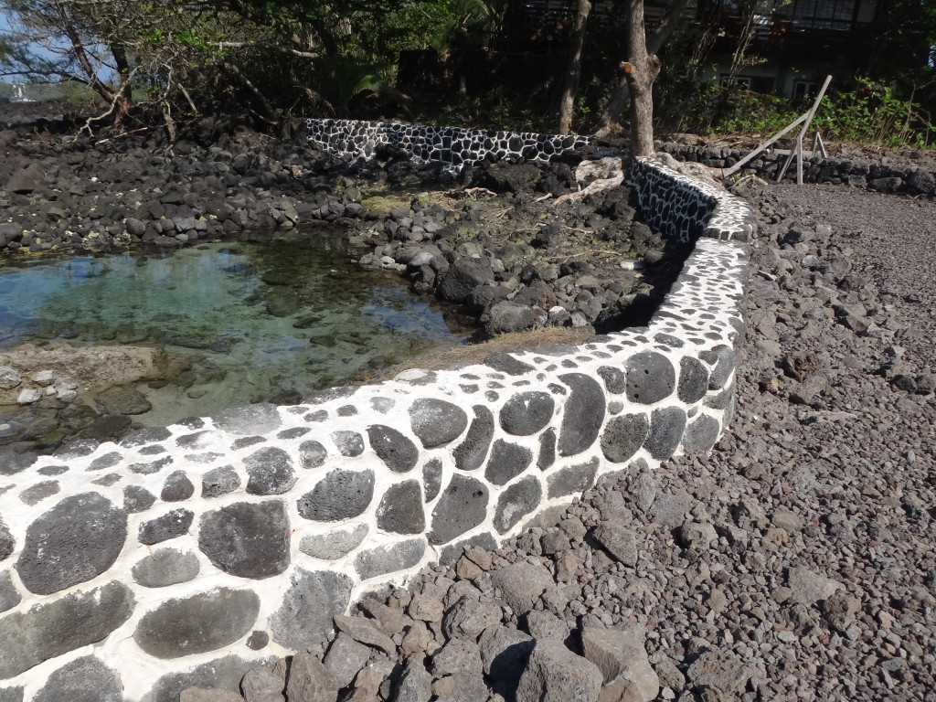
<path id="1" fill-rule="evenodd" d="M 105 572 L 126 541 L 126 513 L 96 492 L 66 497 L 29 525 L 17 573 L 51 594 Z"/>

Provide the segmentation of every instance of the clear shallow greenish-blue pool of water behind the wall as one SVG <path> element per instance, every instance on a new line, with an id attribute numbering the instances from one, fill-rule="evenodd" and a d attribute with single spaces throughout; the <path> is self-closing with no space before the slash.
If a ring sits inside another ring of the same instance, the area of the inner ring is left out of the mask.
<path id="1" fill-rule="evenodd" d="M 0 350 L 23 342 L 165 348 L 190 369 L 139 384 L 159 425 L 244 402 L 298 402 L 471 333 L 396 273 L 362 271 L 321 230 L 172 254 L 0 268 Z"/>

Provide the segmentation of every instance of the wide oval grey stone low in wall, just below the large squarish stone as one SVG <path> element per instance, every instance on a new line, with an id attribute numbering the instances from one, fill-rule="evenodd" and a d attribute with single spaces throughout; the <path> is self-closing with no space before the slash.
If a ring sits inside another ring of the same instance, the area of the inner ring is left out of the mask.
<path id="1" fill-rule="evenodd" d="M 250 631 L 259 611 L 256 592 L 216 588 L 155 607 L 143 615 L 133 639 L 155 658 L 215 651 Z"/>

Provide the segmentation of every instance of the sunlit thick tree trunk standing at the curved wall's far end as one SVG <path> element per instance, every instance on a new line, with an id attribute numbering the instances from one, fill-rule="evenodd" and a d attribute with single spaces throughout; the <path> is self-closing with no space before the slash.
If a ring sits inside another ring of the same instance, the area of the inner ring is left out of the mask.
<path id="1" fill-rule="evenodd" d="M 627 0 L 627 54 L 622 64 L 631 90 L 631 157 L 653 154 L 653 81 L 660 59 L 647 51 L 643 0 Z"/>

